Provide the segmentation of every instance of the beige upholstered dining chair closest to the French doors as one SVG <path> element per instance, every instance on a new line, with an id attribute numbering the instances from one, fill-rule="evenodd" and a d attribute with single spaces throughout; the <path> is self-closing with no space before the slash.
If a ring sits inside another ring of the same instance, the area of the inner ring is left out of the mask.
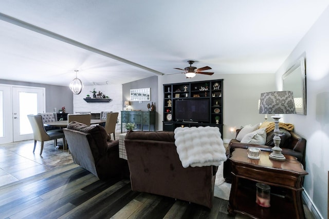
<path id="1" fill-rule="evenodd" d="M 57 131 L 46 131 L 42 122 L 42 115 L 27 115 L 32 130 L 33 130 L 33 138 L 34 138 L 34 148 L 33 153 L 35 151 L 36 141 L 41 142 L 41 150 L 40 155 L 42 154 L 44 142 L 54 140 L 54 146 L 57 146 L 57 139 L 63 138 L 63 147 L 65 144 L 65 136 L 63 132 Z"/>

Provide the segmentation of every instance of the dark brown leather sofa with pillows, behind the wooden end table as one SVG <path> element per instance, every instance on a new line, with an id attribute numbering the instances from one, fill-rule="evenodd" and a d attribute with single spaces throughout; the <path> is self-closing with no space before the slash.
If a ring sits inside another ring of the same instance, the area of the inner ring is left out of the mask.
<path id="1" fill-rule="evenodd" d="M 236 136 L 239 134 L 241 129 L 236 130 Z M 254 145 L 241 143 L 235 139 L 232 139 L 227 147 L 226 156 L 227 160 L 224 162 L 224 178 L 227 183 L 231 183 L 232 181 L 232 166 L 229 158 L 231 157 L 232 152 L 235 148 L 244 148 L 247 149 L 249 147 L 259 148 L 262 151 L 272 152 L 272 147 L 274 147 L 273 143 L 273 131 L 267 133 L 266 143 L 265 145 Z M 293 155 L 297 157 L 297 160 L 301 162 L 305 169 L 305 148 L 306 148 L 306 140 L 302 138 L 300 135 L 293 131 L 287 131 L 283 128 L 280 128 L 280 148 L 282 149 L 282 154 Z"/>

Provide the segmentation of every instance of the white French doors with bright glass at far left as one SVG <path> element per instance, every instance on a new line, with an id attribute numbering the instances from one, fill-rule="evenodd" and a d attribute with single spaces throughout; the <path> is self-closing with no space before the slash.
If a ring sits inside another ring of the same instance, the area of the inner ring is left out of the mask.
<path id="1" fill-rule="evenodd" d="M 45 88 L 1 85 L 0 92 L 0 144 L 32 139 L 27 115 L 44 112 Z"/>

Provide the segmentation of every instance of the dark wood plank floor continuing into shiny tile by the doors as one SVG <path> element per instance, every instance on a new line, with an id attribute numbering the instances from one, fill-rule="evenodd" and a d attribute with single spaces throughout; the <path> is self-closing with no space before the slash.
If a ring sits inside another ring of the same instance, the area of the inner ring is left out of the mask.
<path id="1" fill-rule="evenodd" d="M 35 154 L 32 148 L 33 141 L 0 145 L 1 171 L 17 177 L 6 184 L 0 176 L 0 218 L 248 218 L 228 216 L 228 201 L 220 198 L 214 197 L 208 209 L 132 191 L 129 180 L 100 181 L 52 142 L 42 156 L 38 147 Z"/>

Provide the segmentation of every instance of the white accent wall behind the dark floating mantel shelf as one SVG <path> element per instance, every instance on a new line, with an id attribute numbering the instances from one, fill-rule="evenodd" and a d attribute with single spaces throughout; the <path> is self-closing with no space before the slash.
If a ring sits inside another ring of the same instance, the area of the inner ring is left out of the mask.
<path id="1" fill-rule="evenodd" d="M 87 103 L 83 98 L 86 98 L 86 95 L 89 94 L 93 96 L 92 91 L 96 88 L 96 91 L 101 91 L 103 94 L 112 99 L 109 103 Z M 116 126 L 116 132 L 120 132 L 120 118 L 122 110 L 122 85 L 118 84 L 109 84 L 109 85 L 96 85 L 96 86 L 85 86 L 80 94 L 74 95 L 73 97 L 73 112 L 91 112 L 91 113 L 100 113 L 101 111 L 113 111 L 119 112 L 119 123 Z"/>

